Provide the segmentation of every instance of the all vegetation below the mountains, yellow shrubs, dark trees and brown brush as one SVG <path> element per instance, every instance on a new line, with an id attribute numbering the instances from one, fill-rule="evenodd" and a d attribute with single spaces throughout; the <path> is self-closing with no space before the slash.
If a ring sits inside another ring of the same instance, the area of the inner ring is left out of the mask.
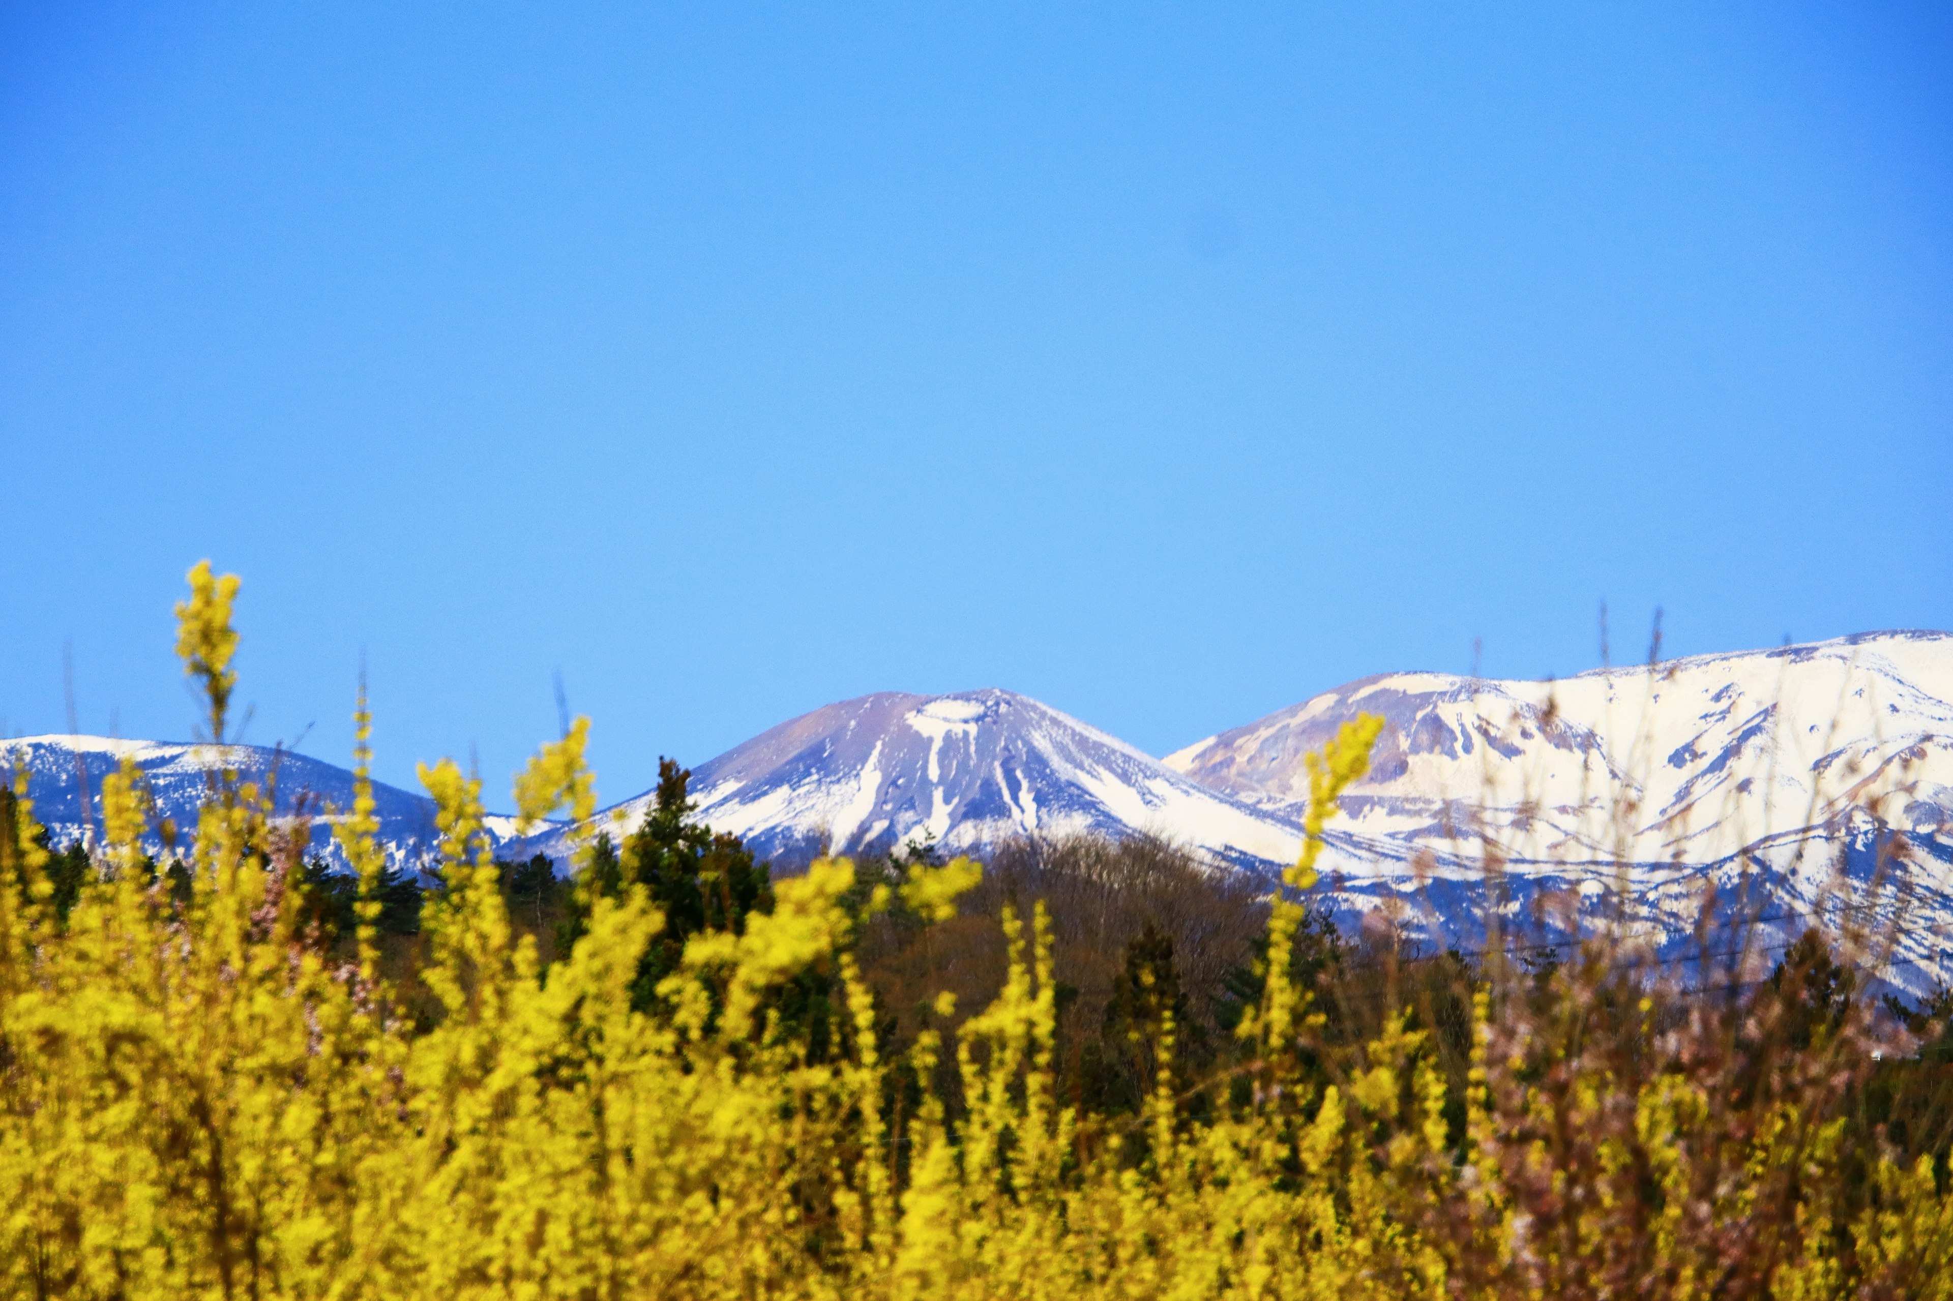
<path id="1" fill-rule="evenodd" d="M 189 580 L 223 740 L 238 584 Z M 1853 934 L 1689 981 L 1342 936 L 1375 719 L 1273 897 L 1101 840 L 775 881 L 676 766 L 562 883 L 441 760 L 424 899 L 357 721 L 344 885 L 221 760 L 164 861 L 129 766 L 92 850 L 0 801 L 0 1295 L 1953 1297 L 1947 1000 Z M 586 736 L 523 820 L 592 817 Z"/>

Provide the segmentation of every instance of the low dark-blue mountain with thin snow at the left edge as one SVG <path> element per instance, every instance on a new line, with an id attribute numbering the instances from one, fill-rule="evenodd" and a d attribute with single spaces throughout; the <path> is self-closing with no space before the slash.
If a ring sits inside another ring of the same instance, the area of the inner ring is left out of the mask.
<path id="1" fill-rule="evenodd" d="M 123 756 L 131 756 L 143 772 L 156 799 L 156 817 L 170 818 L 178 828 L 195 828 L 197 807 L 209 789 L 211 772 L 229 768 L 260 787 L 268 779 L 275 781 L 277 813 L 307 813 L 312 818 L 314 848 L 334 861 L 342 858 L 332 842 L 332 811 L 352 807 L 353 774 L 289 750 L 107 736 L 25 736 L 0 740 L 0 774 L 10 766 L 27 770 L 33 817 L 53 832 L 57 846 L 64 846 L 84 834 L 84 824 L 92 824 L 94 834 L 100 834 L 102 777 L 121 768 Z M 418 867 L 437 858 L 439 832 L 434 826 L 432 799 L 375 781 L 373 803 L 389 861 L 398 867 Z M 508 842 L 514 836 L 514 818 L 490 817 L 488 834 L 496 844 Z M 148 848 L 160 850 L 154 834 L 148 838 Z"/>

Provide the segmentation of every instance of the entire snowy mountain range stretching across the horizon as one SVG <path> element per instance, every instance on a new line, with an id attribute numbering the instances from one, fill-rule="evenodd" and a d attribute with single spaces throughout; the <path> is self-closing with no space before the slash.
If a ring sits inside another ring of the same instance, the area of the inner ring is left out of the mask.
<path id="1" fill-rule="evenodd" d="M 1350 922 L 1379 910 L 1434 944 L 1473 945 L 1488 908 L 1547 901 L 1558 926 L 1625 908 L 1676 947 L 1709 883 L 1724 924 L 1764 893 L 1766 944 L 1861 901 L 1894 832 L 1904 881 L 1902 983 L 1953 973 L 1953 635 L 1873 633 L 1562 682 L 1383 674 L 1209 736 L 1164 762 L 1012 692 L 883 692 L 814 709 L 695 766 L 699 817 L 762 856 L 803 860 L 934 834 L 982 850 L 1018 834 L 1150 832 L 1219 863 L 1293 861 L 1303 756 L 1357 713 L 1385 717 L 1371 776 L 1342 801 L 1324 867 Z M 193 817 L 209 746 L 35 736 L 12 742 L 57 836 L 80 832 L 90 789 L 133 752 L 166 813 Z M 279 789 L 344 807 L 352 774 L 305 756 L 232 748 Z M 1867 805 L 1871 793 L 1881 793 Z M 613 811 L 635 824 L 650 795 Z M 379 789 L 400 863 L 434 844 L 432 805 Z M 615 824 L 605 820 L 603 824 Z M 561 856 L 564 826 L 500 852 Z M 320 828 L 324 838 L 326 830 Z M 324 840 L 322 840 L 324 842 Z M 1500 867 L 1490 887 L 1486 861 Z M 1744 865 L 1750 865 L 1748 873 Z M 1834 873 L 1842 869 L 1842 877 Z M 1844 883 L 1844 893 L 1836 891 Z M 1625 885 L 1625 893 L 1619 889 Z M 1744 895 L 1744 891 L 1748 891 Z"/>

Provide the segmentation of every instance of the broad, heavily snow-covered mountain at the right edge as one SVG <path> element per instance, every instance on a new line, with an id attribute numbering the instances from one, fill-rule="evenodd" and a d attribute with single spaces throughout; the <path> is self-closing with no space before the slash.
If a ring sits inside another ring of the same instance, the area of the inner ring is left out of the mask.
<path id="1" fill-rule="evenodd" d="M 1469 944 L 1494 858 L 1521 904 L 1551 891 L 1586 916 L 1623 902 L 1625 873 L 1627 906 L 1668 942 L 1711 881 L 1724 910 L 1762 897 L 1775 940 L 1873 901 L 1906 920 L 1906 963 L 1953 973 L 1949 701 L 1953 635 L 1877 633 L 1560 682 L 1383 674 L 1166 764 L 1293 818 L 1303 756 L 1379 713 L 1326 856 L 1351 910 L 1422 877 L 1424 924 Z"/>

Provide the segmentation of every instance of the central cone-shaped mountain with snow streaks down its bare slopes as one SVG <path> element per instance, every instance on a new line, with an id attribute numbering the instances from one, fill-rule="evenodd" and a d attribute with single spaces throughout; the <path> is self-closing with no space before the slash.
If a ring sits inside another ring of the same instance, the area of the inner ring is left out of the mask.
<path id="1" fill-rule="evenodd" d="M 814 709 L 697 766 L 697 817 L 758 854 L 803 858 L 934 834 L 978 850 L 1018 834 L 1160 832 L 1221 861 L 1287 861 L 1299 832 L 1012 692 L 879 692 Z M 600 815 L 627 826 L 650 795 Z M 561 852 L 562 836 L 537 838 Z M 527 850 L 527 844 L 523 846 Z"/>

